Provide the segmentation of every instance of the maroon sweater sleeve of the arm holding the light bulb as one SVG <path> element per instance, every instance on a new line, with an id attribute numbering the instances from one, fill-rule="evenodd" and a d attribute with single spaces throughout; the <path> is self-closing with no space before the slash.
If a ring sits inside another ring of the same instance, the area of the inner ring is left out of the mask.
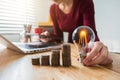
<path id="1" fill-rule="evenodd" d="M 88 2 L 87 2 L 88 1 Z M 95 18 L 94 18 L 94 4 L 93 0 L 86 0 L 86 7 L 83 12 L 83 25 L 90 26 L 95 32 L 95 41 L 99 41 L 96 27 L 95 27 Z"/>

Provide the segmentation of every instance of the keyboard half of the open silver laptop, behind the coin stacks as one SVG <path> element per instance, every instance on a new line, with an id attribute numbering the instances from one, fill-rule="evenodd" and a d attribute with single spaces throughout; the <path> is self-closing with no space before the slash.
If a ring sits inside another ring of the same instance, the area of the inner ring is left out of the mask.
<path id="1" fill-rule="evenodd" d="M 25 53 L 38 53 L 38 52 L 45 52 L 50 51 L 53 49 L 61 49 L 60 44 L 56 42 L 33 42 L 33 43 L 22 43 L 18 44 L 19 48 L 25 51 Z"/>

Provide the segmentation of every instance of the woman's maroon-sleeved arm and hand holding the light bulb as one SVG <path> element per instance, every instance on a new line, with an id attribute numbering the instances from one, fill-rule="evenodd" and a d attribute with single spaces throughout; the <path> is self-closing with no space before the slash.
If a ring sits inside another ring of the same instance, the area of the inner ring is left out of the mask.
<path id="1" fill-rule="evenodd" d="M 99 41 L 95 27 L 94 13 L 93 0 L 86 0 L 86 7 L 83 11 L 83 25 L 90 26 L 93 29 L 96 35 L 96 42 L 94 43 L 91 51 L 87 53 L 87 57 L 84 59 L 84 63 L 88 66 L 96 64 L 111 64 L 113 60 L 108 52 L 108 48 Z"/>

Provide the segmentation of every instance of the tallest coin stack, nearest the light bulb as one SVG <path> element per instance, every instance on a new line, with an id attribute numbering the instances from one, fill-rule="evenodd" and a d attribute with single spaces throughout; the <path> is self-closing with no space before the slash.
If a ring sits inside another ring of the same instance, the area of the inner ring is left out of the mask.
<path id="1" fill-rule="evenodd" d="M 65 67 L 71 66 L 71 47 L 68 43 L 63 44 L 62 64 Z"/>

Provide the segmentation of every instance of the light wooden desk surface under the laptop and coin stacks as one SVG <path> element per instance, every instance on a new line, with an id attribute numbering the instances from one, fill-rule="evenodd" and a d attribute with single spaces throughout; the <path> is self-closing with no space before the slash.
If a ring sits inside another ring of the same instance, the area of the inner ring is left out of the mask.
<path id="1" fill-rule="evenodd" d="M 77 50 L 72 47 L 71 67 L 33 66 L 31 57 L 9 49 L 0 49 L 0 80 L 120 80 L 120 54 L 111 54 L 113 64 L 108 66 L 83 66 L 76 60 Z"/>

